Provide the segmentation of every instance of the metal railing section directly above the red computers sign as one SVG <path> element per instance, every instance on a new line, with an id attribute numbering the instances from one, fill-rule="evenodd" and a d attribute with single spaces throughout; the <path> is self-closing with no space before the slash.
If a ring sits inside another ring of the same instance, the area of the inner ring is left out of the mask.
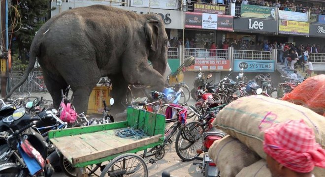
<path id="1" fill-rule="evenodd" d="M 200 59 L 228 59 L 228 50 L 185 48 L 184 57 L 190 56 Z"/>

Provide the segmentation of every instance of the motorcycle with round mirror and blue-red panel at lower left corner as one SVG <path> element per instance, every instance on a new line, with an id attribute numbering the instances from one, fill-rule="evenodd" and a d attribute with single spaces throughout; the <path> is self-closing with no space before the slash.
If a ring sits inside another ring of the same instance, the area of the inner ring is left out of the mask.
<path id="1" fill-rule="evenodd" d="M 32 108 L 40 103 L 41 99 L 36 98 Z M 7 135 L 0 141 L 0 174 L 11 177 L 52 176 L 54 169 L 47 160 L 49 145 L 33 129 L 33 121 L 40 119 L 28 114 L 25 107 L 20 107 L 0 121 L 0 132 Z"/>

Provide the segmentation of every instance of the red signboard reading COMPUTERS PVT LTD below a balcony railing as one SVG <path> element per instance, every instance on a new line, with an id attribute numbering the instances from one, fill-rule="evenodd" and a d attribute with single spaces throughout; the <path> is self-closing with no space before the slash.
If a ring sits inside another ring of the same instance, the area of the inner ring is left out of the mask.
<path id="1" fill-rule="evenodd" d="M 204 71 L 226 71 L 230 68 L 230 60 L 195 58 L 195 64 L 190 66 L 189 70 L 198 71 L 200 68 Z"/>

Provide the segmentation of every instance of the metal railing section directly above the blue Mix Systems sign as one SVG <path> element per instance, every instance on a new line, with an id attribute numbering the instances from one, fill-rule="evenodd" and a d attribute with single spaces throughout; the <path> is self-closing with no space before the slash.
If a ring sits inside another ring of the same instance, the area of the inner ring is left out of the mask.
<path id="1" fill-rule="evenodd" d="M 272 59 L 270 51 L 233 50 L 233 59 Z"/>

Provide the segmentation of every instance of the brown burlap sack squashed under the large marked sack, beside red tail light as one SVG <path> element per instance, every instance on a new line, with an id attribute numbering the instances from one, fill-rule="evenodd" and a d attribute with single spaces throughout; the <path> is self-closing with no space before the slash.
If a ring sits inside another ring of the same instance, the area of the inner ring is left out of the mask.
<path id="1" fill-rule="evenodd" d="M 230 136 L 215 141 L 208 153 L 217 164 L 221 177 L 235 177 L 242 168 L 260 159 L 257 153 Z"/>

